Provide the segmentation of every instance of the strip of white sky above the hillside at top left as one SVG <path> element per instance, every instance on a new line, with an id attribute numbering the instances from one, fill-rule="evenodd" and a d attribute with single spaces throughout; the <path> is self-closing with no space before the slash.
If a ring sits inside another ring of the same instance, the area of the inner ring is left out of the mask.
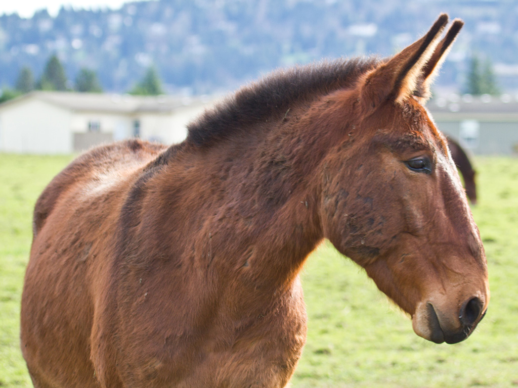
<path id="1" fill-rule="evenodd" d="M 61 6 L 74 9 L 120 8 L 131 0 L 0 0 L 0 15 L 17 12 L 22 18 L 31 18 L 34 12 L 47 8 L 51 16 L 56 16 Z"/>

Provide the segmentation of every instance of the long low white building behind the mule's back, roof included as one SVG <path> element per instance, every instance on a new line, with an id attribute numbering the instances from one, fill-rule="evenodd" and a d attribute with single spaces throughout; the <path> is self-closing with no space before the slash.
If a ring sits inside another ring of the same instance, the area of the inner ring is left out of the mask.
<path id="1" fill-rule="evenodd" d="M 208 103 L 204 98 L 32 92 L 0 105 L 0 152 L 69 154 L 130 137 L 178 143 L 186 124 Z"/>

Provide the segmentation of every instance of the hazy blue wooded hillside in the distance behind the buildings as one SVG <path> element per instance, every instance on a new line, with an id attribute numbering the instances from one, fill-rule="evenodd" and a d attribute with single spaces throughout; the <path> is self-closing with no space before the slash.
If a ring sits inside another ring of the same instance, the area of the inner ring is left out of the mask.
<path id="1" fill-rule="evenodd" d="M 107 91 L 125 92 L 154 64 L 169 92 L 232 89 L 276 67 L 324 57 L 391 55 L 440 12 L 466 26 L 440 85 L 463 83 L 469 57 L 488 56 L 504 91 L 518 89 L 518 1 L 157 0 L 119 10 L 62 9 L 52 18 L 0 17 L 0 86 L 22 66 L 39 77 L 57 53 L 73 81 L 93 69 Z"/>

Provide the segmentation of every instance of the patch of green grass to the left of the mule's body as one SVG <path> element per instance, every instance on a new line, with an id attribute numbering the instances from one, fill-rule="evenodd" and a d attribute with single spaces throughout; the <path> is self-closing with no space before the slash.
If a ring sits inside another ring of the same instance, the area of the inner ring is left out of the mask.
<path id="1" fill-rule="evenodd" d="M 71 156 L 0 154 L 0 387 L 32 386 L 19 348 L 23 275 L 32 211 L 41 190 Z"/>

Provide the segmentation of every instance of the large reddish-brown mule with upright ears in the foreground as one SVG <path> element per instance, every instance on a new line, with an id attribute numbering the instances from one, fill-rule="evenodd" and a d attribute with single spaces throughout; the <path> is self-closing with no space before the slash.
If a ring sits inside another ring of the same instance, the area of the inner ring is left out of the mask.
<path id="1" fill-rule="evenodd" d="M 42 192 L 21 306 L 36 387 L 282 387 L 299 273 L 327 238 L 437 343 L 490 298 L 457 170 L 423 103 L 463 22 L 387 59 L 278 71 L 170 147 L 79 156 Z"/>

